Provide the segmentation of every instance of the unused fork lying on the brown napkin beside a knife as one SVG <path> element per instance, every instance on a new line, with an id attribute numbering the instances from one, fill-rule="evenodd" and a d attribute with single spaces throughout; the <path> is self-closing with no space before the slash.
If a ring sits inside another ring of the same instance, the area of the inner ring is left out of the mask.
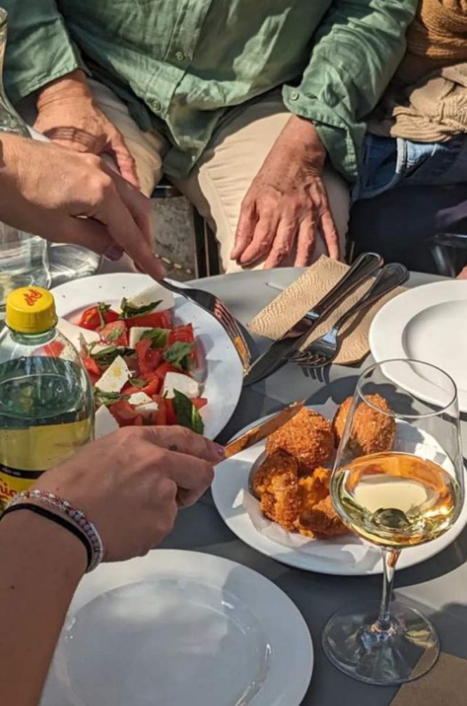
<path id="1" fill-rule="evenodd" d="M 311 342 L 303 351 L 293 354 L 289 357 L 289 360 L 298 363 L 305 369 L 322 368 L 332 363 L 339 349 L 339 330 L 344 323 L 358 311 L 367 309 L 368 306 L 374 304 L 384 294 L 391 292 L 394 287 L 402 285 L 407 277 L 408 270 L 404 265 L 399 263 L 384 265 L 368 292 L 356 304 L 351 306 L 348 311 L 343 313 L 325 335 Z"/>

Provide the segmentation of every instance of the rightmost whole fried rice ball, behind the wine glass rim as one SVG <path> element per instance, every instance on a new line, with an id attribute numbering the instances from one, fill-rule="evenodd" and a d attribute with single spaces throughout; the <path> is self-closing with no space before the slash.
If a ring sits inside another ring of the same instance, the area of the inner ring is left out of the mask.
<path id="1" fill-rule="evenodd" d="M 386 412 L 391 411 L 391 407 L 381 395 L 366 395 L 368 402 L 374 407 L 380 407 Z M 352 404 L 352 397 L 348 397 L 342 402 L 334 416 L 332 428 L 336 443 L 339 444 L 344 433 L 344 427 Z M 358 456 L 367 453 L 380 453 L 389 451 L 394 445 L 396 438 L 396 421 L 394 417 L 377 412 L 376 409 L 360 402 L 353 417 L 353 427 L 349 445 L 353 453 Z"/>

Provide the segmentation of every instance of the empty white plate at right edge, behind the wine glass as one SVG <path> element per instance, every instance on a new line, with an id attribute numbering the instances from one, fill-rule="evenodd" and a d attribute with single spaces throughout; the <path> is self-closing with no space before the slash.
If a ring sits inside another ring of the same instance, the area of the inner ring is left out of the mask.
<path id="1" fill-rule="evenodd" d="M 431 363 L 454 378 L 459 407 L 467 412 L 467 282 L 447 280 L 408 289 L 375 316 L 370 349 L 375 361 L 412 358 Z M 430 385 L 414 369 L 410 379 L 401 369 L 395 383 L 435 401 Z"/>

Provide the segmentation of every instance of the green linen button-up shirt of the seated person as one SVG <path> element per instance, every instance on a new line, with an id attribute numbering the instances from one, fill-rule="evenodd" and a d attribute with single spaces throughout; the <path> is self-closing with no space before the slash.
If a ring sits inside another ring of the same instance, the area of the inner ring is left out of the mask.
<path id="1" fill-rule="evenodd" d="M 334 167 L 358 176 L 365 116 L 401 61 L 418 0 L 2 0 L 13 102 L 82 66 L 162 130 L 184 177 L 226 111 L 282 87 Z"/>

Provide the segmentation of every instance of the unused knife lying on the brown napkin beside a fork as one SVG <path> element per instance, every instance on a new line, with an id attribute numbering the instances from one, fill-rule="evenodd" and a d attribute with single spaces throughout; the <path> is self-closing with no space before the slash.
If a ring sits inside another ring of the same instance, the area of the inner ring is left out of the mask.
<path id="1" fill-rule="evenodd" d="M 316 328 L 332 309 L 339 306 L 341 301 L 362 282 L 379 270 L 383 263 L 382 257 L 377 253 L 362 253 L 358 256 L 344 277 L 341 277 L 325 297 L 253 362 L 243 378 L 243 385 L 253 385 L 279 370 L 287 362 L 287 357 L 301 347 L 313 328 Z"/>

